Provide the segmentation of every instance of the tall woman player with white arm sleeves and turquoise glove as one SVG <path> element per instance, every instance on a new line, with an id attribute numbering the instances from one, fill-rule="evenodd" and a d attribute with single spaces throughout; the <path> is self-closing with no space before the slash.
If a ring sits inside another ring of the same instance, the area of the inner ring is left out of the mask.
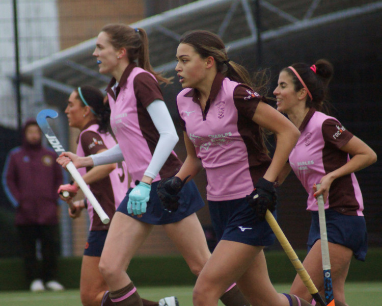
<path id="1" fill-rule="evenodd" d="M 194 274 L 199 274 L 211 256 L 196 215 L 204 202 L 194 182 L 182 189 L 179 208 L 173 212 L 163 210 L 156 194 L 159 181 L 173 176 L 182 163 L 173 151 L 179 138 L 158 84 L 170 80 L 153 71 L 146 32 L 124 24 L 106 25 L 97 37 L 93 55 L 99 72 L 113 75 L 106 91 L 118 145 L 89 157 L 65 152 L 61 164 L 66 165 L 66 157 L 76 167 L 125 160 L 131 188 L 113 217 L 99 268 L 115 305 L 142 305 L 126 269 L 154 225 L 165 228 Z M 248 306 L 232 283 L 221 299 L 227 306 Z M 177 304 L 174 297 L 159 301 L 159 305 Z"/>

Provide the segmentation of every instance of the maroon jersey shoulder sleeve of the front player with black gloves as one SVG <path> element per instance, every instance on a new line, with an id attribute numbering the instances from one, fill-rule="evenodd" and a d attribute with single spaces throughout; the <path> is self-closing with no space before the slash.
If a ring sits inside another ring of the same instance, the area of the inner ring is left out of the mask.
<path id="1" fill-rule="evenodd" d="M 256 108 L 260 101 L 266 101 L 263 96 L 260 96 L 252 88 L 240 84 L 233 91 L 233 99 L 235 107 L 241 116 L 245 116 L 252 120 Z"/>

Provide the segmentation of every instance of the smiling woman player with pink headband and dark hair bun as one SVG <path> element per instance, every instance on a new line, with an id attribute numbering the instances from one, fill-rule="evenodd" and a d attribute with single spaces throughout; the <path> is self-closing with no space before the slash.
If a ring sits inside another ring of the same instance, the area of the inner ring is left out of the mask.
<path id="1" fill-rule="evenodd" d="M 323 194 L 334 297 L 345 303 L 344 284 L 351 257 L 354 255 L 364 261 L 367 251 L 363 200 L 354 172 L 374 163 L 376 154 L 336 118 L 322 113 L 332 75 L 333 66 L 326 60 L 318 60 L 311 67 L 304 63 L 293 64 L 281 70 L 274 94 L 277 110 L 288 115 L 301 133 L 279 179 L 282 183 L 293 169 L 308 192 L 307 209 L 311 212 L 312 223 L 304 267 L 322 294 L 316 197 Z M 321 183 L 319 190 L 316 190 L 316 183 Z M 311 300 L 298 276 L 290 292 Z"/>

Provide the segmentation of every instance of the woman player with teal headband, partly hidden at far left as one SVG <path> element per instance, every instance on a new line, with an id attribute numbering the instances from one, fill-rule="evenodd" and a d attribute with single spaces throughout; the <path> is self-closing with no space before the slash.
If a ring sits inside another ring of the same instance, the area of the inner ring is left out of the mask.
<path id="1" fill-rule="evenodd" d="M 110 108 L 103 103 L 102 92 L 92 86 L 81 86 L 74 90 L 68 99 L 65 113 L 69 126 L 80 130 L 77 139 L 77 155 L 81 157 L 97 154 L 116 145 L 110 133 Z M 103 210 L 112 220 L 119 203 L 127 192 L 128 173 L 124 161 L 118 164 L 99 165 L 93 168 L 78 170 L 90 186 Z M 71 201 L 78 191 L 77 183 L 61 185 L 59 192 L 69 191 Z M 83 209 L 87 209 L 90 218 L 89 236 L 84 250 L 80 277 L 80 296 L 83 305 L 113 305 L 108 297 L 108 287 L 99 272 L 98 265 L 105 243 L 109 224 L 103 224 L 86 199 L 74 202 L 75 211 L 69 209 L 69 216 L 78 218 Z M 158 302 L 143 300 L 147 306 L 158 305 Z"/>

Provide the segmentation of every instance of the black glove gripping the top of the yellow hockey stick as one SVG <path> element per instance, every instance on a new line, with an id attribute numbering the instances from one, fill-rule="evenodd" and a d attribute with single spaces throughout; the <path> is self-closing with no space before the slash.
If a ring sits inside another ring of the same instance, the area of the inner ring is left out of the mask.
<path id="1" fill-rule="evenodd" d="M 256 197 L 256 195 L 258 196 Z M 264 220 L 267 209 L 270 212 L 276 209 L 276 189 L 272 182 L 265 180 L 263 177 L 257 182 L 252 193 L 247 195 L 245 199 L 260 220 Z"/>

